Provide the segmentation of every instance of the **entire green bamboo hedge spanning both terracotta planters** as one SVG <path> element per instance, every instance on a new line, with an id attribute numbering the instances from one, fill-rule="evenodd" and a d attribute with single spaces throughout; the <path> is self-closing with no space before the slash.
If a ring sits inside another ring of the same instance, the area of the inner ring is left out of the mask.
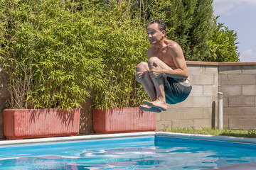
<path id="1" fill-rule="evenodd" d="M 11 108 L 138 106 L 134 67 L 146 60 L 144 28 L 119 1 L 1 1 L 1 67 Z M 106 13 L 107 12 L 107 13 Z"/>

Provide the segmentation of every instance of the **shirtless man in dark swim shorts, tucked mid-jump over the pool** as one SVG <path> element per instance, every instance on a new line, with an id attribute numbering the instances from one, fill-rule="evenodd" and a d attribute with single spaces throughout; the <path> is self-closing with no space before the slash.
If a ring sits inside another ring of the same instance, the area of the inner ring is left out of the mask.
<path id="1" fill-rule="evenodd" d="M 151 101 L 144 100 L 146 105 L 139 108 L 159 113 L 167 110 L 166 103 L 184 101 L 192 87 L 183 51 L 177 42 L 166 39 L 165 23 L 151 21 L 146 32 L 152 46 L 146 52 L 148 62 L 141 62 L 135 67 L 135 77 Z"/>

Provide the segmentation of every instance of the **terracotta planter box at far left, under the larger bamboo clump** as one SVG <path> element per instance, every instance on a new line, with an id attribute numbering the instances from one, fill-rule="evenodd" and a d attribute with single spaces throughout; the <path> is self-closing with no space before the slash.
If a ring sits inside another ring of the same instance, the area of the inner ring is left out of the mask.
<path id="1" fill-rule="evenodd" d="M 3 111 L 4 135 L 7 140 L 33 137 L 78 135 L 80 108 L 73 111 L 59 109 L 11 109 Z"/>

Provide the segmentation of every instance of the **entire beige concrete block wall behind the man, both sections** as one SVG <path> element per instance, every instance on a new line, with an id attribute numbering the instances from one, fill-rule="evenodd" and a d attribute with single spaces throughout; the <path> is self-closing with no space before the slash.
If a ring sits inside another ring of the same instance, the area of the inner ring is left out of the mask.
<path id="1" fill-rule="evenodd" d="M 223 92 L 223 126 L 256 129 L 256 62 L 187 62 L 193 86 L 186 101 L 158 114 L 157 130 L 218 127 L 218 92 Z"/>

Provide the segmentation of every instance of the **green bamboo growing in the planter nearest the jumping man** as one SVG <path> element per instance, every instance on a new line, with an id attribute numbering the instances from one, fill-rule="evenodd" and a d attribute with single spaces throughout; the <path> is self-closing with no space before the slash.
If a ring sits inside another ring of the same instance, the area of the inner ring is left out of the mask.
<path id="1" fill-rule="evenodd" d="M 110 4 L 106 11 L 107 28 L 104 39 L 107 50 L 105 62 L 106 83 L 95 91 L 95 108 L 135 107 L 148 98 L 143 87 L 134 79 L 134 67 L 146 61 L 149 42 L 139 23 L 139 18 L 130 18 L 130 4 Z"/>

